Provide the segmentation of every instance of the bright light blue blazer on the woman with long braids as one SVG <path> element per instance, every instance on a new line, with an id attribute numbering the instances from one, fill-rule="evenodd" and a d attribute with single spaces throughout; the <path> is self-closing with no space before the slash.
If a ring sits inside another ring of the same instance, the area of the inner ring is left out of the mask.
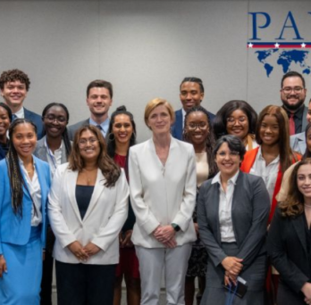
<path id="1" fill-rule="evenodd" d="M 33 156 L 38 181 L 41 186 L 42 232 L 41 241 L 46 244 L 46 204 L 47 194 L 51 185 L 51 174 L 48 164 Z M 6 160 L 0 161 L 0 254 L 3 253 L 2 243 L 25 245 L 29 242 L 31 231 L 32 201 L 24 189 L 22 199 L 22 217 L 14 214 L 11 202 L 11 185 Z"/>

